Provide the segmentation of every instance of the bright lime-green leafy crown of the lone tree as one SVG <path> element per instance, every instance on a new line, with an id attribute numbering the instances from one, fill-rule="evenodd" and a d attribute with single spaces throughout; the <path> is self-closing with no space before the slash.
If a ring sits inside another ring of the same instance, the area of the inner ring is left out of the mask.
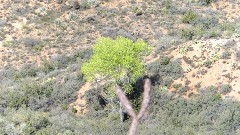
<path id="1" fill-rule="evenodd" d="M 100 38 L 93 46 L 93 56 L 81 70 L 88 81 L 106 78 L 114 82 L 134 82 L 144 73 L 141 56 L 149 51 L 142 40 L 133 42 L 124 37 L 116 40 Z"/>

